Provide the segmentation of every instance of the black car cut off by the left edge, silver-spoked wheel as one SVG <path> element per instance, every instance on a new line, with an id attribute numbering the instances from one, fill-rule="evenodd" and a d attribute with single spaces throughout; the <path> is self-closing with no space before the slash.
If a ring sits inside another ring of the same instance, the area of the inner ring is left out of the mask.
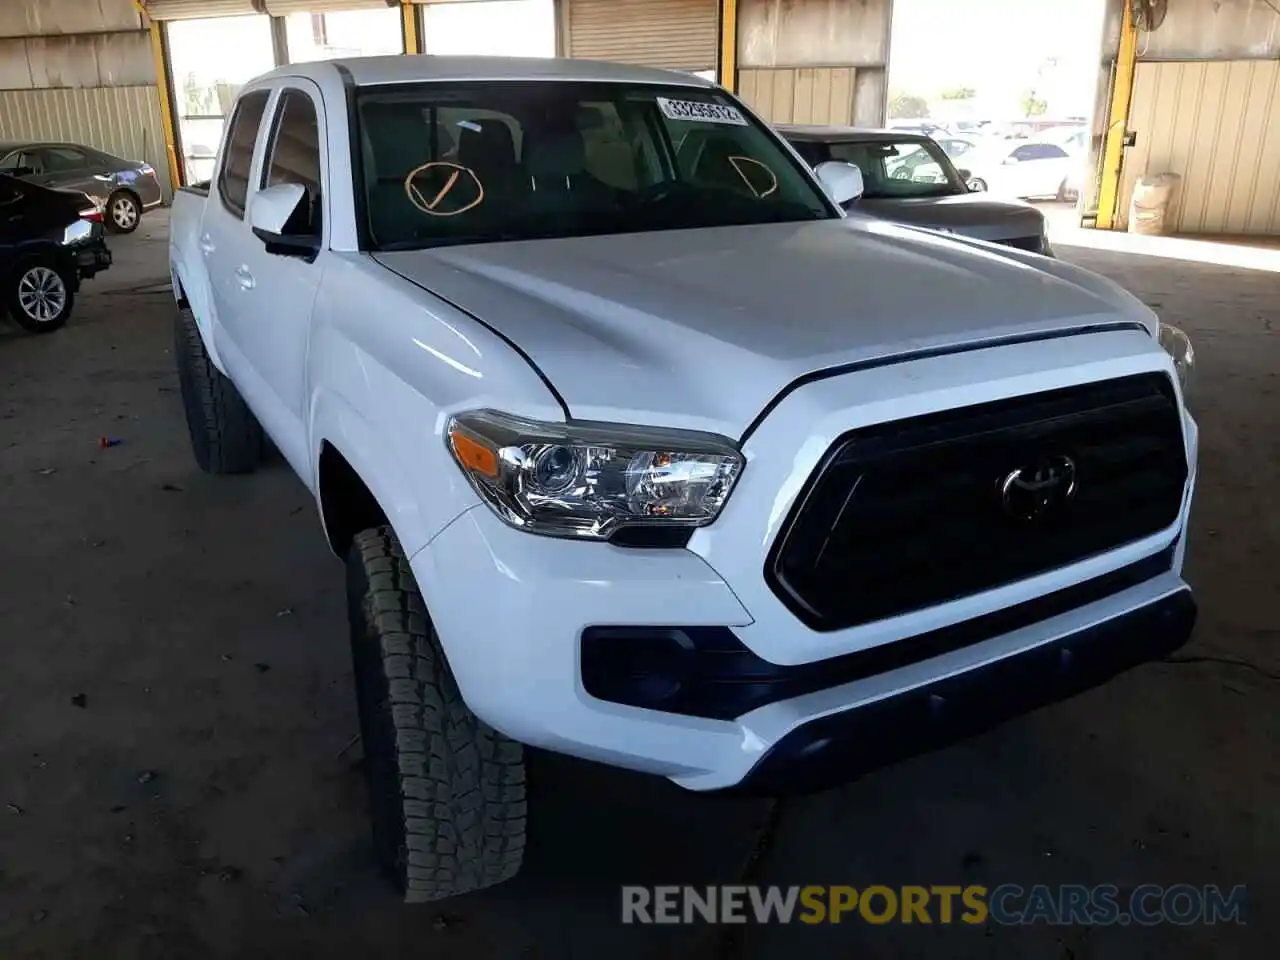
<path id="1" fill-rule="evenodd" d="M 0 174 L 0 294 L 19 326 L 56 330 L 81 280 L 110 265 L 102 212 L 83 193 Z"/>

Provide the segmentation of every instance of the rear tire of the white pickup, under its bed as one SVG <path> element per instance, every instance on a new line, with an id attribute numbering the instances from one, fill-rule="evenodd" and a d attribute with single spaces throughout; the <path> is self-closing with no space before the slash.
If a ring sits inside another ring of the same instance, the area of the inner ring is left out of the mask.
<path id="1" fill-rule="evenodd" d="M 191 310 L 174 320 L 174 358 L 196 463 L 206 474 L 248 474 L 262 460 L 262 426 L 236 384 L 214 366 Z"/>

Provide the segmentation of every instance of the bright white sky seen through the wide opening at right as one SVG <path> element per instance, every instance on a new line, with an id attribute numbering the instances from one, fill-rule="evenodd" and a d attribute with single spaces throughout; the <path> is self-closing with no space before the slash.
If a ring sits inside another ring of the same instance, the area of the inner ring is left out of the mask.
<path id="1" fill-rule="evenodd" d="M 1103 0 L 893 0 L 890 88 L 924 96 L 937 114 L 942 90 L 973 87 L 977 113 L 1009 118 L 1038 86 L 1050 114 L 1088 116 L 1102 13 Z"/>

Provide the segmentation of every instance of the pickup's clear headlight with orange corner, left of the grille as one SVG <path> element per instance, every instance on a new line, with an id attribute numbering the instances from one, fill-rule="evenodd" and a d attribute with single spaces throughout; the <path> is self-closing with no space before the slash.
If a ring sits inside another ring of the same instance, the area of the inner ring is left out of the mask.
<path id="1" fill-rule="evenodd" d="M 502 520 L 548 536 L 607 540 L 623 526 L 705 526 L 742 472 L 724 438 L 616 424 L 460 413 L 449 452 Z"/>

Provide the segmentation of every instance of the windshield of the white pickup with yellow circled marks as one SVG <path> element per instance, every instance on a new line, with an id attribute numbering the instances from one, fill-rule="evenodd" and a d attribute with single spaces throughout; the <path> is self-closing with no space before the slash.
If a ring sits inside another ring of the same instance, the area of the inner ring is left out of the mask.
<path id="1" fill-rule="evenodd" d="M 356 114 L 374 250 L 836 216 L 713 90 L 419 83 L 361 90 Z"/>

